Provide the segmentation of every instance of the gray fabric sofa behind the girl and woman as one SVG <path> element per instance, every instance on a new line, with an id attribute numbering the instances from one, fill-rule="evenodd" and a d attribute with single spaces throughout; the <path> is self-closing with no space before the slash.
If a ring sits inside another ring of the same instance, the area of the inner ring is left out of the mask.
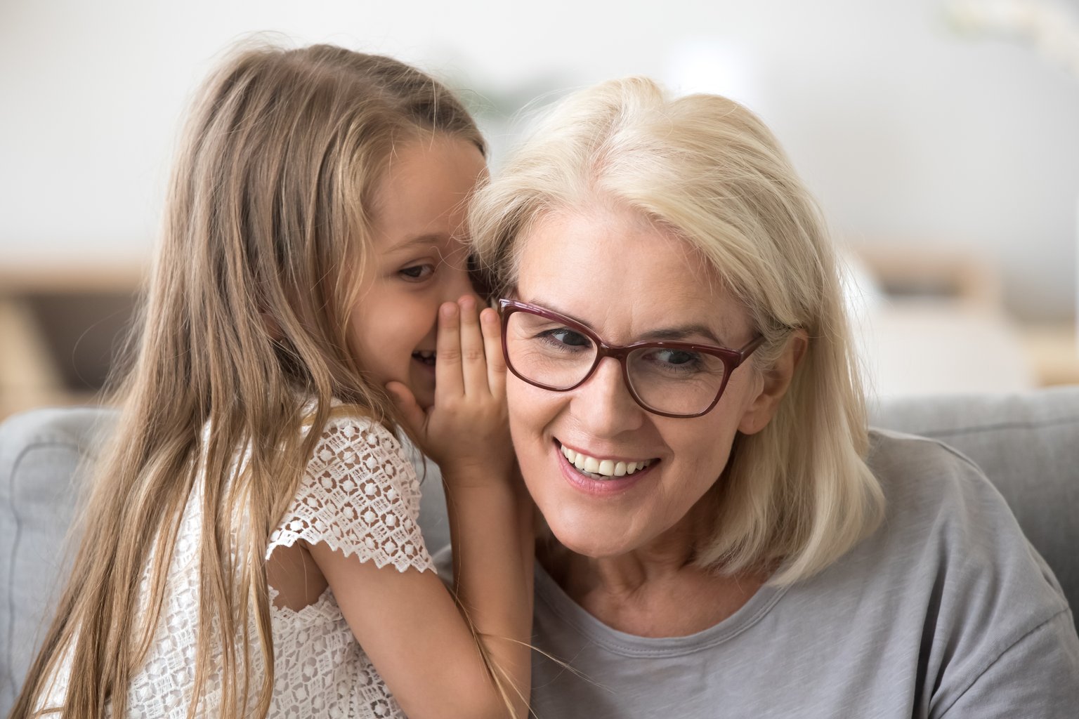
<path id="1" fill-rule="evenodd" d="M 64 569 L 81 468 L 113 415 L 37 410 L 0 425 L 0 715 L 6 715 Z M 978 462 L 1079 606 L 1079 387 L 1023 395 L 885 402 L 874 424 L 951 444 Z M 427 467 L 421 524 L 448 541 L 437 469 Z"/>

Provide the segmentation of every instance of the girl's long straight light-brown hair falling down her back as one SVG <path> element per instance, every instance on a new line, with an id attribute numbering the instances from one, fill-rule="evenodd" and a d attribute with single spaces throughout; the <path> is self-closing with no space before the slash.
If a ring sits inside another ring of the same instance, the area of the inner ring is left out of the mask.
<path id="1" fill-rule="evenodd" d="M 432 134 L 483 151 L 445 86 L 388 57 L 248 45 L 203 86 L 118 385 L 115 441 L 95 468 L 72 576 L 12 716 L 35 714 L 65 655 L 64 717 L 127 714 L 189 497 L 203 516 L 189 716 L 211 673 L 220 716 L 267 714 L 263 554 L 319 434 L 302 438 L 299 400 L 316 400 L 316 428 L 333 399 L 390 424 L 388 398 L 349 351 L 346 324 L 393 148 Z M 249 453 L 243 472 L 237 450 Z"/>

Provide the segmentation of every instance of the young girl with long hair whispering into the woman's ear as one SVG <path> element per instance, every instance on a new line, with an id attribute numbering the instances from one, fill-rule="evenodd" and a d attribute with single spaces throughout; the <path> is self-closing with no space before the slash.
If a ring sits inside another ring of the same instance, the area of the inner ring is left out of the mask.
<path id="1" fill-rule="evenodd" d="M 527 715 L 530 529 L 461 235 L 484 172 L 464 108 L 390 58 L 245 50 L 209 80 L 13 717 Z M 395 416 L 442 470 L 455 596 Z"/>

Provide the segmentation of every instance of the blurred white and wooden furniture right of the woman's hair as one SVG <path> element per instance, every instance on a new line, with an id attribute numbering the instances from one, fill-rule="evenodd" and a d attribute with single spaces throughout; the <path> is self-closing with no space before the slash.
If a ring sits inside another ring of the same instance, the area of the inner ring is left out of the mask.
<path id="1" fill-rule="evenodd" d="M 1074 326 L 1023 326 L 999 273 L 943 244 L 848 248 L 848 303 L 870 390 L 893 398 L 1079 384 Z"/>

